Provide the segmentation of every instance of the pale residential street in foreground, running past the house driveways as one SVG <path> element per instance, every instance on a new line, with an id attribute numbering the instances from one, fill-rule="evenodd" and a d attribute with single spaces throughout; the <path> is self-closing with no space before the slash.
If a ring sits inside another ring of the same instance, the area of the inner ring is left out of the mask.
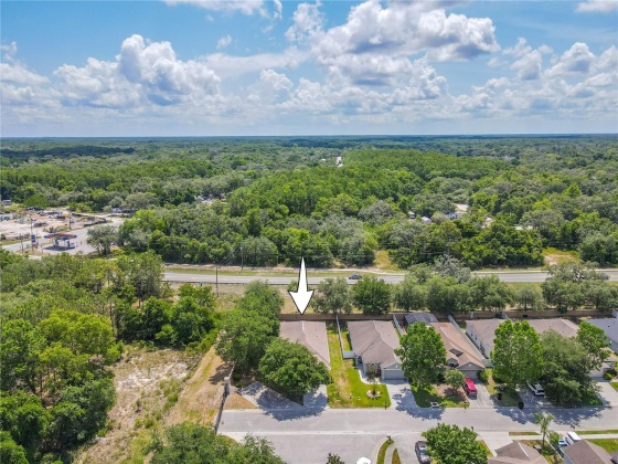
<path id="1" fill-rule="evenodd" d="M 616 412 L 609 408 L 546 411 L 556 418 L 553 430 L 610 430 L 618 425 Z M 496 431 L 537 432 L 534 412 L 537 410 L 516 408 L 225 410 L 219 431 L 236 440 L 246 433 L 264 436 L 284 461 L 292 464 L 323 463 L 329 452 L 354 463 L 361 456 L 375 456 L 386 435 L 403 434 L 413 445 L 420 432 L 439 422 L 473 426 L 481 436 L 482 432 Z"/>

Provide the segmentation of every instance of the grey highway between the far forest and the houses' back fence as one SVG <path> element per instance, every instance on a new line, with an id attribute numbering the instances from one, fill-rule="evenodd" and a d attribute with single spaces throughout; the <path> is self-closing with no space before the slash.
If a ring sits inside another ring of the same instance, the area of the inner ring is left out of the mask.
<path id="1" fill-rule="evenodd" d="M 604 271 L 605 274 L 609 276 L 610 281 L 618 281 L 618 271 Z M 309 285 L 317 285 L 322 282 L 326 277 L 311 277 L 311 271 L 307 272 Z M 350 273 L 352 274 L 352 273 Z M 545 272 L 480 272 L 472 273 L 472 275 L 497 275 L 502 282 L 543 282 L 547 278 L 547 273 Z M 347 275 L 347 274 L 343 274 Z M 397 284 L 404 280 L 403 274 L 377 274 L 380 278 L 383 278 L 388 284 Z M 269 276 L 269 275 L 228 275 L 220 274 L 220 284 L 248 284 L 253 281 L 268 281 L 271 285 L 288 285 L 291 281 L 298 277 L 292 276 Z M 166 272 L 163 274 L 163 280 L 169 282 L 194 282 L 194 283 L 207 283 L 214 284 L 217 281 L 215 274 L 190 274 L 190 273 L 174 273 Z M 356 281 L 348 280 L 349 284 L 354 284 Z"/>

